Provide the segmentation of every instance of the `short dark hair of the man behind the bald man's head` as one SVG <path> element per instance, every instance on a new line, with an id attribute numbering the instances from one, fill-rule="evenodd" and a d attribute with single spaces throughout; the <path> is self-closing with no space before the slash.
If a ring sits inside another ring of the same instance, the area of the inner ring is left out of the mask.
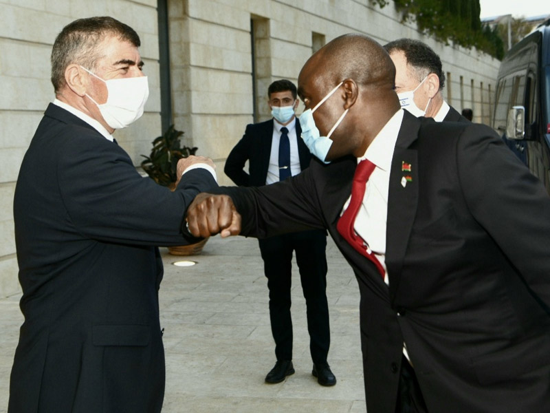
<path id="1" fill-rule="evenodd" d="M 445 87 L 445 73 L 441 69 L 441 59 L 426 43 L 413 39 L 397 39 L 384 45 L 386 52 L 403 52 L 407 63 L 412 66 L 419 82 L 430 73 L 439 77 L 439 90 Z"/>

